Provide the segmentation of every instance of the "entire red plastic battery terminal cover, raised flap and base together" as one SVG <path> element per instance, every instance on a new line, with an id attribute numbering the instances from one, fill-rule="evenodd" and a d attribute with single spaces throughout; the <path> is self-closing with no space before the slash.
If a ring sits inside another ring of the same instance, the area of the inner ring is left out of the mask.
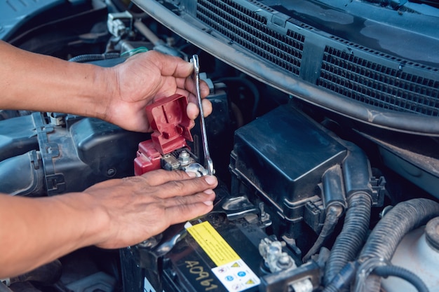
<path id="1" fill-rule="evenodd" d="M 139 144 L 134 160 L 135 175 L 161 168 L 161 155 L 188 147 L 187 141 L 193 141 L 186 109 L 187 97 L 177 94 L 158 99 L 146 107 L 149 125 L 154 132 L 150 140 Z"/>

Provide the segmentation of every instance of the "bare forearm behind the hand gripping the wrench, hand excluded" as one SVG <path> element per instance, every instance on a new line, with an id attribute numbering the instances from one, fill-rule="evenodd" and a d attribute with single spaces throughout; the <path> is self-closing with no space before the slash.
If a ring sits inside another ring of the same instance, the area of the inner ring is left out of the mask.
<path id="1" fill-rule="evenodd" d="M 0 109 L 102 118 L 111 71 L 29 53 L 0 41 Z"/>

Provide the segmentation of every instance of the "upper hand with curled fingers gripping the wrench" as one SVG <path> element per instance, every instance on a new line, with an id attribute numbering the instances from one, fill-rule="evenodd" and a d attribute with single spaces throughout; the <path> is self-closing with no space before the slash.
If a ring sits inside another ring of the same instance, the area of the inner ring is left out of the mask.
<path id="1" fill-rule="evenodd" d="M 189 77 L 194 70 L 193 64 L 151 50 L 134 55 L 109 70 L 116 83 L 108 86 L 116 89 L 109 90 L 104 120 L 126 130 L 151 132 L 145 106 L 175 93 L 188 97 L 187 116 L 191 120 L 198 116 L 194 81 Z M 202 97 L 208 93 L 208 85 L 201 82 Z M 208 99 L 203 99 L 203 112 L 205 116 L 212 112 Z"/>

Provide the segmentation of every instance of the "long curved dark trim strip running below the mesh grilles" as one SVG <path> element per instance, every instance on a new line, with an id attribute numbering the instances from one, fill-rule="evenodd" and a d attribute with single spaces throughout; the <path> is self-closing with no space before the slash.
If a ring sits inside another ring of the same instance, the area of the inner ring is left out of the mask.
<path id="1" fill-rule="evenodd" d="M 187 41 L 278 90 L 342 116 L 377 127 L 411 134 L 439 136 L 439 121 L 436 117 L 386 111 L 333 95 L 326 90 L 316 88 L 311 83 L 301 81 L 299 78 L 287 76 L 284 72 L 270 67 L 266 62 L 260 62 L 238 48 L 229 46 L 224 40 L 215 38 L 205 29 L 194 26 L 196 20 L 193 21 L 194 23 L 190 23 L 186 19 L 190 18 L 189 15 L 185 14 L 184 18 L 179 17 L 156 1 L 134 0 L 134 3 Z"/>

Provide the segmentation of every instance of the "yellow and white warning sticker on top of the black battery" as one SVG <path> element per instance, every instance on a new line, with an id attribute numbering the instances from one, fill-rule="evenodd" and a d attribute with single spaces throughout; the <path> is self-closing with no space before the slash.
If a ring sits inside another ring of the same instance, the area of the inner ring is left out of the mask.
<path id="1" fill-rule="evenodd" d="M 259 277 L 208 221 L 196 225 L 189 223 L 185 227 L 217 265 L 212 272 L 228 291 L 244 291 L 260 284 Z"/>

